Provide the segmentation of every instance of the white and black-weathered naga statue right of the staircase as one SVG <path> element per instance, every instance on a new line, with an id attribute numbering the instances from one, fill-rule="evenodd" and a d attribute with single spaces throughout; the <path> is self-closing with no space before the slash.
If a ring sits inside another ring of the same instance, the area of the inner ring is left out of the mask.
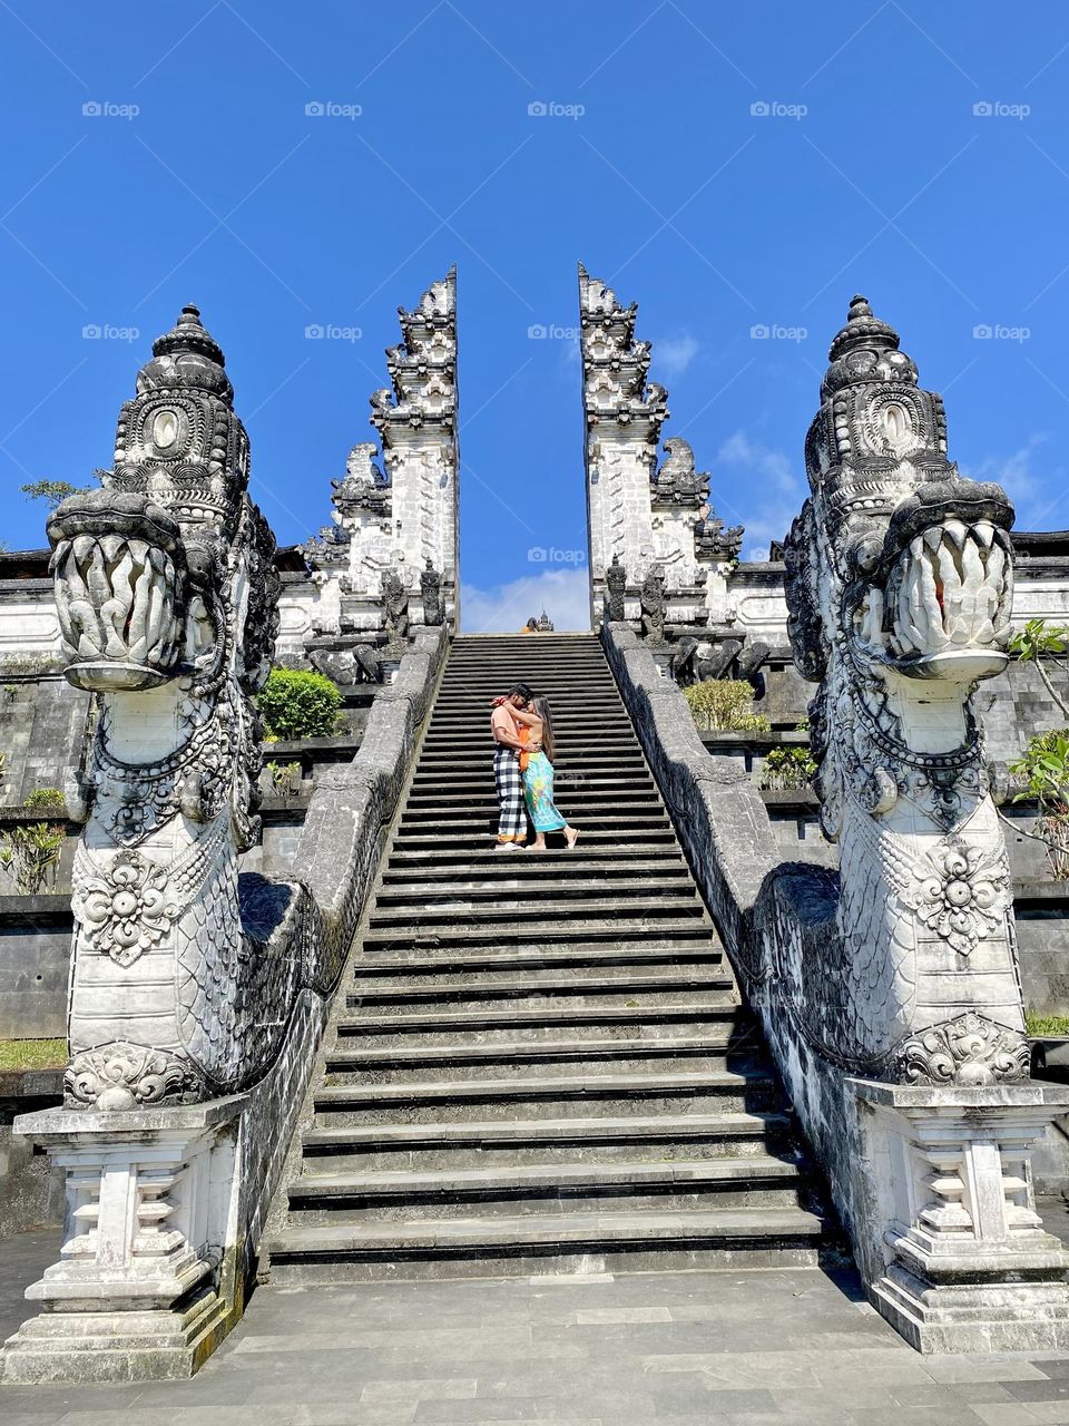
<path id="1" fill-rule="evenodd" d="M 865 298 L 830 362 L 784 555 L 840 878 L 818 874 L 820 985 L 784 1004 L 852 1074 L 1012 1081 L 1029 1064 L 1012 886 L 972 692 L 1006 665 L 1013 509 L 958 473 L 941 398 Z"/>

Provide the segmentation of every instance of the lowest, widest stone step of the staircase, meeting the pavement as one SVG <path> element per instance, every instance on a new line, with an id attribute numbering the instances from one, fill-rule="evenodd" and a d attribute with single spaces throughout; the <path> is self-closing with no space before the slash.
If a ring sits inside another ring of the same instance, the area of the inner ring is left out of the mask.
<path id="1" fill-rule="evenodd" d="M 324 1225 L 288 1228 L 269 1241 L 271 1281 L 814 1266 L 822 1238 L 820 1218 L 801 1208 Z"/>

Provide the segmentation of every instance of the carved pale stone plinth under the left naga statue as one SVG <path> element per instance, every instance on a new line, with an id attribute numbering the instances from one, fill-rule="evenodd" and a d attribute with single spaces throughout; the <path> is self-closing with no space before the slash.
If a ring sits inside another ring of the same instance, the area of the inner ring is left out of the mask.
<path id="1" fill-rule="evenodd" d="M 235 1271 L 245 1097 L 123 1112 L 44 1109 L 16 1128 L 67 1182 L 41 1312 L 7 1342 L 7 1382 L 191 1376 L 241 1312 Z"/>

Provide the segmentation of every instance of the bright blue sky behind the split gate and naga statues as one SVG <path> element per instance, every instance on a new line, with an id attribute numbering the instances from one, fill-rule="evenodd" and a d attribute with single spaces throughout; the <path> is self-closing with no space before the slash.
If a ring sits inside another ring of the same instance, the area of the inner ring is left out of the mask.
<path id="1" fill-rule="evenodd" d="M 582 622 L 579 260 L 640 302 L 666 434 L 744 553 L 801 503 L 855 291 L 945 392 L 961 466 L 1005 479 L 1021 528 L 1069 525 L 1068 78 L 1049 3 L 0 0 L 0 536 L 43 543 L 19 485 L 110 462 L 195 301 L 254 495 L 306 538 L 373 435 L 398 304 L 455 261 L 466 626 Z"/>

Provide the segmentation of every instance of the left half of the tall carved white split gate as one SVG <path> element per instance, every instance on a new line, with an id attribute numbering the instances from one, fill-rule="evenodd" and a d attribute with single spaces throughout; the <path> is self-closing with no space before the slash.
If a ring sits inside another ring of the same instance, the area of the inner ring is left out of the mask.
<path id="1" fill-rule="evenodd" d="M 383 575 L 396 575 L 418 596 L 428 565 L 440 575 L 448 616 L 456 620 L 456 268 L 398 315 L 402 342 L 386 352 L 391 385 L 371 396 L 382 468 L 376 445 L 355 445 L 345 478 L 332 482 L 334 525 L 304 546 L 326 606 L 321 625 L 335 633 L 378 627 Z"/>

